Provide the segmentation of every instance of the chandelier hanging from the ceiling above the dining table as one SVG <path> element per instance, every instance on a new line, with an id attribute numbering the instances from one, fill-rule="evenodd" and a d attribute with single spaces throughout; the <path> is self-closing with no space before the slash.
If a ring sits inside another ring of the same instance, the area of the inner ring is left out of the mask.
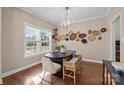
<path id="1" fill-rule="evenodd" d="M 65 7 L 63 18 L 61 18 L 61 31 L 69 31 L 72 24 L 72 15 L 69 7 Z"/>

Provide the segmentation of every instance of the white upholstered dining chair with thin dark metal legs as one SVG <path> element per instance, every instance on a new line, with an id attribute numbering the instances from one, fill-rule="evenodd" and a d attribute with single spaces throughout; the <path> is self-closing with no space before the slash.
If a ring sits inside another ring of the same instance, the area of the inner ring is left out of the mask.
<path id="1" fill-rule="evenodd" d="M 50 84 L 54 84 L 56 81 L 53 82 L 53 74 L 57 73 L 61 69 L 61 65 L 57 64 L 57 63 L 53 63 L 53 62 L 50 61 L 49 58 L 45 58 L 45 57 L 41 58 L 41 62 L 42 62 L 43 70 L 44 70 L 42 80 L 44 80 L 44 81 L 46 81 L 46 82 L 48 82 Z M 51 74 L 52 82 L 49 82 L 49 81 L 44 79 L 46 72 Z"/>

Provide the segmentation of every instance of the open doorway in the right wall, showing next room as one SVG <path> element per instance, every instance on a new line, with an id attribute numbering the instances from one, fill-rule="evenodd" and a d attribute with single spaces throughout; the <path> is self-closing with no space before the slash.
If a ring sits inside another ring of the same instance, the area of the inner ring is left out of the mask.
<path id="1" fill-rule="evenodd" d="M 120 62 L 120 14 L 111 22 L 111 60 Z"/>

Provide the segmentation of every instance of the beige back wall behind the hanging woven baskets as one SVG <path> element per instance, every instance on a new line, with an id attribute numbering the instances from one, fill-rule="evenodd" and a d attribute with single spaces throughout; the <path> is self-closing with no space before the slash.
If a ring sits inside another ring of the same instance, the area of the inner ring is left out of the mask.
<path id="1" fill-rule="evenodd" d="M 85 22 L 75 23 L 70 29 L 73 32 L 80 31 L 82 33 L 87 33 L 89 29 L 100 30 L 103 26 L 106 27 L 106 18 L 94 19 Z M 64 31 L 59 31 L 59 34 L 67 33 Z M 87 44 L 82 44 L 77 41 L 61 41 L 58 45 L 65 44 L 68 49 L 76 50 L 78 54 L 81 54 L 84 59 L 98 60 L 107 58 L 107 34 L 108 31 L 102 34 L 102 40 L 95 40 L 94 42 L 88 42 Z"/>

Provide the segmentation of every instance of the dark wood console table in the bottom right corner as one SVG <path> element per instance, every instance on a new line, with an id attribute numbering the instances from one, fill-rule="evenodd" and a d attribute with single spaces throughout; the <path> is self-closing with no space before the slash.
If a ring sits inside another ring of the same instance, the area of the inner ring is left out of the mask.
<path id="1" fill-rule="evenodd" d="M 120 75 L 111 63 L 103 60 L 103 85 L 124 85 L 124 75 Z"/>

